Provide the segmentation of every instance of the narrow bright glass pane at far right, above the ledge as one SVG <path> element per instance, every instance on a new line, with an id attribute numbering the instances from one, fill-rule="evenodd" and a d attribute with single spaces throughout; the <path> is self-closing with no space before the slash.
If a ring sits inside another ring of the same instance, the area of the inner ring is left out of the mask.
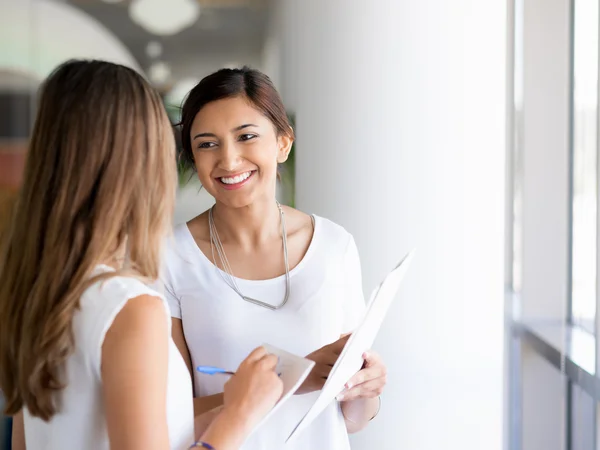
<path id="1" fill-rule="evenodd" d="M 598 0 L 575 0 L 572 317 L 594 331 L 598 128 Z"/>

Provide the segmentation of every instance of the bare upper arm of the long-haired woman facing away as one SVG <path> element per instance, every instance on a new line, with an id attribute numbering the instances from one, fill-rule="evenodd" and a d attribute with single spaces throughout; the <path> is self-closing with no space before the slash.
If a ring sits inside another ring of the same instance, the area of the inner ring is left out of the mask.
<path id="1" fill-rule="evenodd" d="M 167 450 L 168 323 L 162 301 L 142 295 L 119 312 L 102 345 L 112 450 Z"/>

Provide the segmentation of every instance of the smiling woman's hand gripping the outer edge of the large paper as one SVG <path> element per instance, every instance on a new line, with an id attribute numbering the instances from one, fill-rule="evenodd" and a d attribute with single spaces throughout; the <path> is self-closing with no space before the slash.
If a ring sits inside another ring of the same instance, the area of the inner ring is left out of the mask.
<path id="1" fill-rule="evenodd" d="M 357 398 L 376 398 L 387 383 L 387 368 L 381 356 L 372 350 L 363 354 L 363 368 L 346 383 L 346 389 L 338 395 L 339 401 Z"/>

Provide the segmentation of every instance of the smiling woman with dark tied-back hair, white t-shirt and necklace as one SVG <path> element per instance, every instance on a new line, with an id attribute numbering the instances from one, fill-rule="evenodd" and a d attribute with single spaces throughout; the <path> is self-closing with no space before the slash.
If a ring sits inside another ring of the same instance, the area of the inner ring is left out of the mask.
<path id="1" fill-rule="evenodd" d="M 276 201 L 278 164 L 294 132 L 266 75 L 243 68 L 204 78 L 185 100 L 181 132 L 183 160 L 216 203 L 176 228 L 169 244 L 173 339 L 191 372 L 235 367 L 264 342 L 316 362 L 298 395 L 243 447 L 280 450 L 362 316 L 358 251 L 339 225 Z M 348 432 L 377 414 L 386 383 L 380 357 L 364 359 L 338 401 L 286 449 L 349 449 Z M 209 421 L 222 405 L 223 381 L 193 377 L 195 413 Z"/>

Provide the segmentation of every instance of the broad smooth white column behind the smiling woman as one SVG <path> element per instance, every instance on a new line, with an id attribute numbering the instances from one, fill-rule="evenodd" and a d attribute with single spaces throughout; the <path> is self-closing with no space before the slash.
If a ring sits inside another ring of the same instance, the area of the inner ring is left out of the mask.
<path id="1" fill-rule="evenodd" d="M 499 450 L 506 4 L 280 7 L 298 206 L 355 235 L 366 291 L 418 249 L 375 346 L 384 407 L 353 448 Z"/>

